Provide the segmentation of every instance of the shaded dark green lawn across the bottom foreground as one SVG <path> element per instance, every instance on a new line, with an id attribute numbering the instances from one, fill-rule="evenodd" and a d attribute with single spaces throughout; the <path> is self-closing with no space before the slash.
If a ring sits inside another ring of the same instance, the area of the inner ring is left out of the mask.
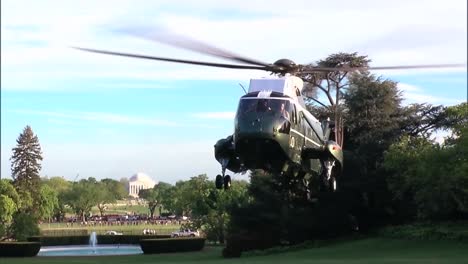
<path id="1" fill-rule="evenodd" d="M 206 247 L 201 252 L 160 255 L 10 258 L 2 263 L 468 263 L 468 244 L 453 241 L 369 238 L 265 256 L 246 254 L 239 259 L 223 259 L 221 249 Z"/>

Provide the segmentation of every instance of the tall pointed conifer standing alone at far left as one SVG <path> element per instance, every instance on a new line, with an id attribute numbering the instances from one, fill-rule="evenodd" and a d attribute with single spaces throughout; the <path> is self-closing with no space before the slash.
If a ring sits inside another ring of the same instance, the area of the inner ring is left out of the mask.
<path id="1" fill-rule="evenodd" d="M 37 212 L 37 203 L 40 200 L 40 161 L 42 161 L 39 139 L 34 135 L 30 126 L 26 126 L 16 140 L 11 156 L 11 172 L 14 185 L 20 195 L 32 198 L 31 211 Z"/>

